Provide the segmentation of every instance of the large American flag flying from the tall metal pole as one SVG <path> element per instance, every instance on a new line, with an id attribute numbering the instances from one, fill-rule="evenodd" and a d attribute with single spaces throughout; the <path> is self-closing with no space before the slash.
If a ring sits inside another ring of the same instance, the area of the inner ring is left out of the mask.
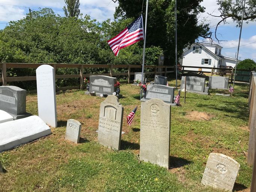
<path id="1" fill-rule="evenodd" d="M 138 17 L 133 23 L 122 30 L 117 36 L 108 40 L 108 45 L 113 50 L 114 55 L 117 56 L 119 50 L 126 46 L 132 45 L 144 39 L 143 20 L 142 15 Z"/>

